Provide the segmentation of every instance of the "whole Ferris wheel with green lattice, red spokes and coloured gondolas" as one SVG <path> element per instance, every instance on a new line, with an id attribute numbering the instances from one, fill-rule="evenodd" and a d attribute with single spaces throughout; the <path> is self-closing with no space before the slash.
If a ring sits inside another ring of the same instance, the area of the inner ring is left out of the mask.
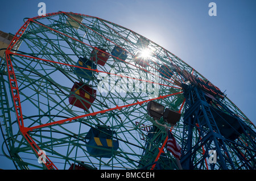
<path id="1" fill-rule="evenodd" d="M 253 123 L 175 54 L 94 16 L 24 20 L 0 70 L 16 169 L 255 169 Z"/>

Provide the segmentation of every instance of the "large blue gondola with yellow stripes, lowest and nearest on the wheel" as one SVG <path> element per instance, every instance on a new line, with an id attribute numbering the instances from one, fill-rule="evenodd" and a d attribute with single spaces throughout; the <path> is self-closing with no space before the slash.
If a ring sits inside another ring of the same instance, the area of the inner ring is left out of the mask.
<path id="1" fill-rule="evenodd" d="M 111 158 L 119 148 L 116 132 L 107 128 L 90 128 L 85 136 L 86 149 L 93 157 Z"/>

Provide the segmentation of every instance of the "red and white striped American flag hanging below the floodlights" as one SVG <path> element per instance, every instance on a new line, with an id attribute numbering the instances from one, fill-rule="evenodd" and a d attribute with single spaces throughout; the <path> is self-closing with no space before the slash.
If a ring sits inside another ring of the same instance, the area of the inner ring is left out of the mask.
<path id="1" fill-rule="evenodd" d="M 168 131 L 168 140 L 167 140 L 167 150 L 171 151 L 174 157 L 180 159 L 181 156 L 181 148 L 180 145 L 177 144 L 174 136 L 170 131 Z"/>

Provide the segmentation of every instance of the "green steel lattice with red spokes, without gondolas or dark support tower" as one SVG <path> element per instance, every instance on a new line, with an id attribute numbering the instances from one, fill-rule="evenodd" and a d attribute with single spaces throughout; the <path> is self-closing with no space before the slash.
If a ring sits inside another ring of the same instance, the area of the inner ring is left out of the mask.
<path id="1" fill-rule="evenodd" d="M 172 130 L 181 145 L 185 110 L 181 83 L 186 81 L 177 68 L 208 80 L 145 37 L 151 54 L 146 66 L 137 64 L 135 57 L 145 48 L 138 44 L 142 37 L 107 20 L 72 12 L 26 19 L 1 61 L 2 150 L 17 169 L 69 169 L 72 163 L 86 169 L 151 169 L 155 161 L 159 163 L 155 169 L 178 169 L 163 145 L 166 131 L 147 115 L 147 103 L 155 100 L 181 112 L 181 120 Z M 22 44 L 13 51 L 18 40 Z M 126 60 L 110 53 L 115 46 L 127 53 Z M 92 72 L 89 79 L 77 76 L 74 69 L 81 68 L 76 64 L 79 57 L 89 58 L 92 50 L 101 51 L 99 48 L 109 54 L 106 64 L 83 68 Z M 170 70 L 164 70 L 166 77 L 160 75 L 161 65 Z M 102 81 L 109 85 L 109 91 L 100 92 Z M 88 110 L 68 102 L 76 82 L 97 90 Z M 255 130 L 226 96 L 221 102 Z M 86 134 L 99 124 L 117 133 L 113 138 L 119 141 L 119 148 L 111 158 L 93 157 L 86 149 Z M 198 137 L 196 132 L 191 139 Z M 158 159 L 159 148 L 163 153 Z M 208 154 L 202 150 L 195 156 L 207 159 Z M 41 158 L 46 162 L 39 163 Z M 200 169 L 208 168 L 207 162 L 201 164 Z"/>

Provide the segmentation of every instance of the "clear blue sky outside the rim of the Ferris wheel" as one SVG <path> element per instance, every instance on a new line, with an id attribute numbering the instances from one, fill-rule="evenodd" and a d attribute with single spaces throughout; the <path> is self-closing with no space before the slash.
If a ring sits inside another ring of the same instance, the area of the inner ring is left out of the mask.
<path id="1" fill-rule="evenodd" d="M 15 33 L 23 18 L 72 11 L 129 28 L 176 54 L 222 91 L 256 125 L 256 1 L 73 0 L 3 1 L 0 30 Z M 210 2 L 217 16 L 209 16 Z M 1 142 L 2 145 L 2 142 Z M 2 151 L 0 151 L 2 154 Z M 0 169 L 6 159 L 0 155 Z"/>

